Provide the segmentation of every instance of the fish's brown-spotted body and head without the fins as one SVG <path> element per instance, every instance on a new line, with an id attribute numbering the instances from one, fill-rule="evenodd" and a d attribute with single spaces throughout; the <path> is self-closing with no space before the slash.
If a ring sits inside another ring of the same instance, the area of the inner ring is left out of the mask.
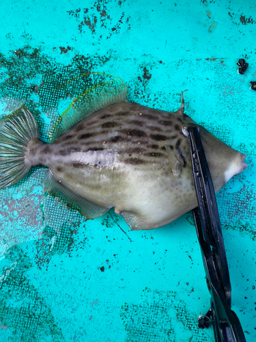
<path id="1" fill-rule="evenodd" d="M 81 120 L 55 143 L 34 144 L 29 158 L 31 165 L 48 166 L 75 194 L 115 207 L 132 229 L 157 228 L 197 206 L 182 131 L 191 122 L 183 113 L 116 103 Z M 245 156 L 200 131 L 217 192 L 245 168 Z M 177 172 L 172 151 L 180 160 Z"/>

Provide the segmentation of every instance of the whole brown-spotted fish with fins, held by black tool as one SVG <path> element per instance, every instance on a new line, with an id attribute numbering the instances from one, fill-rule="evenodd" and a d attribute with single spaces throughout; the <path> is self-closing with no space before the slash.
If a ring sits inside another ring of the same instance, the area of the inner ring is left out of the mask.
<path id="1" fill-rule="evenodd" d="M 199 130 L 218 192 L 246 169 L 246 156 L 184 113 L 127 101 L 121 79 L 99 83 L 72 101 L 42 142 L 25 105 L 0 122 L 0 189 L 32 166 L 47 166 L 46 191 L 87 219 L 112 207 L 131 230 L 154 229 L 197 207 L 188 126 Z"/>

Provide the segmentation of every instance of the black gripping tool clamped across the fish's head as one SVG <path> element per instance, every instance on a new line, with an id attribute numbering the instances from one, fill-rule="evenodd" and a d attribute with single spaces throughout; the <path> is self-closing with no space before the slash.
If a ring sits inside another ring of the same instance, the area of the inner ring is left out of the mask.
<path id="1" fill-rule="evenodd" d="M 211 295 L 208 313 L 198 319 L 199 328 L 213 326 L 216 342 L 246 342 L 238 316 L 231 310 L 231 283 L 221 222 L 197 127 L 188 127 L 188 141 L 199 205 L 193 215 Z"/>

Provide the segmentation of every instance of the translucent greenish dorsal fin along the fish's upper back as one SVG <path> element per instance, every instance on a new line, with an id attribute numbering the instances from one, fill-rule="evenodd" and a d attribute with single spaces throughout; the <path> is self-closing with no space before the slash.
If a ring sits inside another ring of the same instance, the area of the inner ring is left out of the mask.
<path id="1" fill-rule="evenodd" d="M 57 137 L 94 111 L 113 103 L 126 101 L 126 99 L 127 88 L 119 77 L 112 77 L 109 81 L 102 81 L 85 90 L 72 101 L 68 109 L 55 121 L 48 136 L 50 142 L 54 142 Z"/>

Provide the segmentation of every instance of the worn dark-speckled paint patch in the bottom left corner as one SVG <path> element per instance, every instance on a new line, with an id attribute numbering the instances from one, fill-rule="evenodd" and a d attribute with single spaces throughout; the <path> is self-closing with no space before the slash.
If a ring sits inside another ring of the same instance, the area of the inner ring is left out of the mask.
<path id="1" fill-rule="evenodd" d="M 5 253 L 1 278 L 0 315 L 2 329 L 12 331 L 8 341 L 65 341 L 54 321 L 51 309 L 24 275 L 31 267 L 29 257 L 18 246 Z"/>

